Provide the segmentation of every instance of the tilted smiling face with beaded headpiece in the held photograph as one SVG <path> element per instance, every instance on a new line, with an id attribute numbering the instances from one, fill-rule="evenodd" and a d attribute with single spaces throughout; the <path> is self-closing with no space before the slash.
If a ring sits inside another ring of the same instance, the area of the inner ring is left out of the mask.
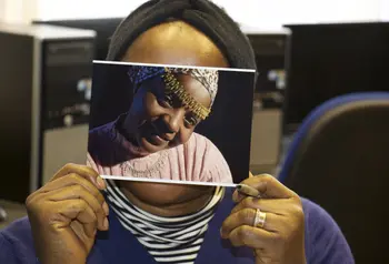
<path id="1" fill-rule="evenodd" d="M 126 122 L 127 131 L 134 143 L 148 153 L 184 144 L 196 125 L 209 114 L 216 95 L 217 71 L 138 68 L 141 73 L 160 73 L 136 84 Z M 208 79 L 202 79 L 209 82 L 193 78 L 201 77 L 200 73 L 208 75 Z"/>

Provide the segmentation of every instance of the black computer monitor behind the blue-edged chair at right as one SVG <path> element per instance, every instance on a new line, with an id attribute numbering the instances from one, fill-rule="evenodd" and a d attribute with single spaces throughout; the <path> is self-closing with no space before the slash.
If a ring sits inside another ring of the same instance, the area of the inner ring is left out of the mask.
<path id="1" fill-rule="evenodd" d="M 389 23 L 295 24 L 286 59 L 283 131 L 337 95 L 389 91 Z"/>

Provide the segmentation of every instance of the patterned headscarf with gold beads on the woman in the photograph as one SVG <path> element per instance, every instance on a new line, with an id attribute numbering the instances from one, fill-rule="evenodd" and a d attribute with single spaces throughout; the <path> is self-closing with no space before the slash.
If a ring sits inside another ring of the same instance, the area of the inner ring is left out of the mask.
<path id="1" fill-rule="evenodd" d="M 162 67 L 140 67 L 132 65 L 129 70 L 131 82 L 138 89 L 138 84 L 153 77 L 161 77 L 166 84 L 167 95 L 174 94 L 181 103 L 188 108 L 197 118 L 205 120 L 213 104 L 218 92 L 219 73 L 217 70 L 210 69 L 189 69 L 189 68 L 162 68 Z M 210 108 L 206 108 L 197 102 L 183 88 L 174 74 L 189 74 L 198 80 L 209 92 L 211 97 Z"/>

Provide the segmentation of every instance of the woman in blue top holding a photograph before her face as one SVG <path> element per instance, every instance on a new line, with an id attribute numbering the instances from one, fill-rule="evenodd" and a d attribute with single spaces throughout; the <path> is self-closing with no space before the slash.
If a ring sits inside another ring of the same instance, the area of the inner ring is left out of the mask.
<path id="1" fill-rule="evenodd" d="M 206 0 L 147 2 L 119 26 L 108 60 L 255 65 L 239 28 Z M 353 263 L 318 205 L 268 175 L 243 183 L 262 199 L 193 185 L 107 187 L 91 167 L 66 165 L 28 197 L 29 217 L 1 232 L 0 263 Z"/>

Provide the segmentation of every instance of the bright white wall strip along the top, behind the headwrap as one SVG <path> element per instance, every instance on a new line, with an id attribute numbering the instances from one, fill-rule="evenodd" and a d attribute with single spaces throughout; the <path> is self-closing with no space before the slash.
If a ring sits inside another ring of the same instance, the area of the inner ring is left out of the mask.
<path id="1" fill-rule="evenodd" d="M 0 0 L 0 19 L 72 19 L 123 17 L 143 0 Z M 238 22 L 261 28 L 285 23 L 388 20 L 389 0 L 213 0 Z M 0 6 L 1 7 L 1 6 Z"/>

